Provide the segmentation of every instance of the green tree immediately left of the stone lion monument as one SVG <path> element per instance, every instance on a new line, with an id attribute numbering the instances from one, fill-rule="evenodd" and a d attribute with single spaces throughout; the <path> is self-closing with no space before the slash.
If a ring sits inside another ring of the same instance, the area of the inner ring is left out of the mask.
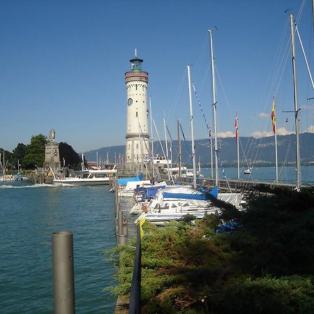
<path id="1" fill-rule="evenodd" d="M 47 137 L 39 134 L 31 137 L 31 144 L 27 145 L 22 166 L 26 169 L 33 169 L 36 166 L 43 167 L 45 161 L 45 144 Z"/>

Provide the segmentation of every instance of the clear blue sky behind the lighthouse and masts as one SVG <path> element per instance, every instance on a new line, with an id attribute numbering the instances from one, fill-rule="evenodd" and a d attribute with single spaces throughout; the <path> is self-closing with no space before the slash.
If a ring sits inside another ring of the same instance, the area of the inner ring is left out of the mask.
<path id="1" fill-rule="evenodd" d="M 278 134 L 294 132 L 290 20 L 294 14 L 314 68 L 309 0 L 2 0 L 0 2 L 0 147 L 12 151 L 49 136 L 77 152 L 126 144 L 124 74 L 135 55 L 149 73 L 147 96 L 160 139 L 181 121 L 190 139 L 186 66 L 195 140 L 212 119 L 209 32 L 213 30 L 218 137 L 269 136 L 276 98 Z M 314 133 L 314 97 L 296 36 L 301 132 Z M 204 118 L 202 117 L 202 111 Z M 154 140 L 158 139 L 156 130 Z M 169 138 L 169 135 L 167 135 Z"/>

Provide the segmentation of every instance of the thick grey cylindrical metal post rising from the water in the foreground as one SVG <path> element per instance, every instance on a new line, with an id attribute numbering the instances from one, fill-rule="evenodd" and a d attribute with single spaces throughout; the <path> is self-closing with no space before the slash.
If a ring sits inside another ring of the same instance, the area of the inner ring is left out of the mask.
<path id="1" fill-rule="evenodd" d="M 73 233 L 52 232 L 54 314 L 75 314 Z"/>

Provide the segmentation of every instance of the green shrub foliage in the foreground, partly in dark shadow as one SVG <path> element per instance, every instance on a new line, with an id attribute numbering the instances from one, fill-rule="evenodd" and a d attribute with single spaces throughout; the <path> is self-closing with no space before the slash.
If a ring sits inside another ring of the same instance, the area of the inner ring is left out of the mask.
<path id="1" fill-rule="evenodd" d="M 195 223 L 144 223 L 142 313 L 314 313 L 314 188 L 262 187 L 246 210 Z M 118 267 L 113 294 L 130 292 L 131 246 L 106 252 Z"/>

